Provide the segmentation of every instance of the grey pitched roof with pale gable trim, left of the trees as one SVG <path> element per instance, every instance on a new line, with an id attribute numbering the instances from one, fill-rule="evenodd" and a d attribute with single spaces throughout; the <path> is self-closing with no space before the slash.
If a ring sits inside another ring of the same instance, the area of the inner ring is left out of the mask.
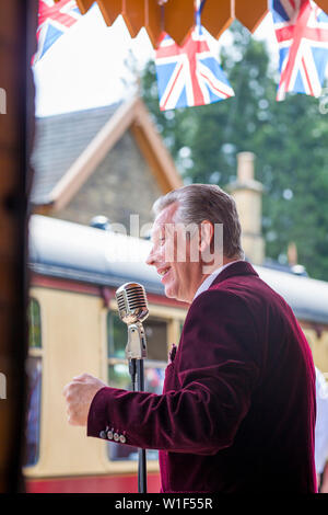
<path id="1" fill-rule="evenodd" d="M 163 194 L 181 186 L 144 103 L 132 98 L 107 107 L 37 118 L 31 197 L 35 213 L 63 208 L 128 129 Z"/>

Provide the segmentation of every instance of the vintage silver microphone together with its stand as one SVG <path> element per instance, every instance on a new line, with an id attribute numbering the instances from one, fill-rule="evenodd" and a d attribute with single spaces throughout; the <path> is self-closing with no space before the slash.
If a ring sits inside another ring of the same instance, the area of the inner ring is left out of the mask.
<path id="1" fill-rule="evenodd" d="M 147 342 L 142 322 L 149 316 L 144 287 L 139 283 L 126 283 L 116 290 L 120 319 L 128 325 L 126 357 L 133 391 L 144 391 L 143 359 Z M 138 449 L 138 491 L 147 493 L 145 449 Z"/>

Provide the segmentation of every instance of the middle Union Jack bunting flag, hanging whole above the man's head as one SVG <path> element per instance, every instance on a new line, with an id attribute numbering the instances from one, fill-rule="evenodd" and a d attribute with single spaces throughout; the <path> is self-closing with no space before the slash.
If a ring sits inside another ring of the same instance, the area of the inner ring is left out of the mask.
<path id="1" fill-rule="evenodd" d="M 196 25 L 181 47 L 162 34 L 155 55 L 161 111 L 211 104 L 234 95 L 200 24 L 202 3 L 196 12 Z"/>

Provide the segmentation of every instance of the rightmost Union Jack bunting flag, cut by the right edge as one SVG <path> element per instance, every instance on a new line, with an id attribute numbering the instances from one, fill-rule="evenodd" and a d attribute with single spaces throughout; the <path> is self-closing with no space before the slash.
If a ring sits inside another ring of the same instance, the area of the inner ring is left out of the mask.
<path id="1" fill-rule="evenodd" d="M 312 0 L 271 0 L 281 72 L 277 100 L 288 91 L 321 94 L 328 61 L 328 15 Z"/>

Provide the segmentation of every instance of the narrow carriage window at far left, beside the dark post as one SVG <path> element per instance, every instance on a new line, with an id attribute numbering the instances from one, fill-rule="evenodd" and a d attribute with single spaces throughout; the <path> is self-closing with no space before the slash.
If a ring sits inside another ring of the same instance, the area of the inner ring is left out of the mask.
<path id="1" fill-rule="evenodd" d="M 40 387 L 42 387 L 42 327 L 40 308 L 35 299 L 28 306 L 27 419 L 25 466 L 33 466 L 39 454 Z"/>

